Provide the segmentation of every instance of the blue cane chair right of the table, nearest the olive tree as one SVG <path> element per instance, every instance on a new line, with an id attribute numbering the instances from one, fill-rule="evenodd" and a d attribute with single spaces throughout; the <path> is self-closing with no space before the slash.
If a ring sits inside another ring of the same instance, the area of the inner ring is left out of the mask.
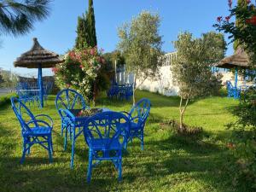
<path id="1" fill-rule="evenodd" d="M 150 101 L 143 98 L 131 108 L 129 113 L 123 112 L 131 121 L 131 128 L 128 132 L 127 143 L 132 142 L 132 139 L 137 137 L 141 141 L 142 150 L 144 148 L 144 127 L 146 120 L 148 119 L 150 107 Z M 127 143 L 125 143 L 125 148 L 127 148 Z"/>

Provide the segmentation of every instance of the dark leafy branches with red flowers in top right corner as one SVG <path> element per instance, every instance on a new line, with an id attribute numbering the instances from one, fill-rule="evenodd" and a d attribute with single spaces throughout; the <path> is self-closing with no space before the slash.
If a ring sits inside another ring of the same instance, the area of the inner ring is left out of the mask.
<path id="1" fill-rule="evenodd" d="M 236 22 L 231 21 L 236 17 Z M 247 49 L 251 58 L 251 65 L 256 63 L 256 9 L 251 1 L 240 0 L 232 8 L 230 4 L 230 15 L 223 18 L 218 17 L 218 23 L 213 25 L 220 32 L 229 33 L 230 43 L 235 43 L 235 48 L 241 45 Z"/>

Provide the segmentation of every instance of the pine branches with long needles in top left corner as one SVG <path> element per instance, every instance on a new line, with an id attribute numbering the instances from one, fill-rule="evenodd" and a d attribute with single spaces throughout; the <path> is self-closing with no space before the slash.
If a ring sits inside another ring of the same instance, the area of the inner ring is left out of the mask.
<path id="1" fill-rule="evenodd" d="M 50 0 L 1 0 L 0 31 L 23 35 L 32 30 L 33 23 L 49 15 Z"/>

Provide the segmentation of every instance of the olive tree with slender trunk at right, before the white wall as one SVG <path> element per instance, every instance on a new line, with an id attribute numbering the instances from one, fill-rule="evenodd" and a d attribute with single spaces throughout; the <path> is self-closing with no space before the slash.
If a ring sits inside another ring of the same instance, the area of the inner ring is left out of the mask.
<path id="1" fill-rule="evenodd" d="M 220 33 L 208 32 L 194 38 L 189 32 L 178 35 L 174 43 L 177 57 L 172 63 L 174 83 L 179 87 L 180 131 L 184 131 L 183 114 L 189 100 L 211 95 L 220 88 L 220 81 L 211 67 L 224 58 L 226 44 Z"/>

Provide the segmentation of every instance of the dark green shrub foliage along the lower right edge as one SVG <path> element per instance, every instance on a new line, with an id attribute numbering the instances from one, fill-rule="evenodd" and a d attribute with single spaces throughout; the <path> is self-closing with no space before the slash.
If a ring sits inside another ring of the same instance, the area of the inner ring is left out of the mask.
<path id="1" fill-rule="evenodd" d="M 246 92 L 233 113 L 238 118 L 228 125 L 233 130 L 232 143 L 228 147 L 235 157 L 233 175 L 236 184 L 247 182 L 247 186 L 256 189 L 256 88 Z"/>

